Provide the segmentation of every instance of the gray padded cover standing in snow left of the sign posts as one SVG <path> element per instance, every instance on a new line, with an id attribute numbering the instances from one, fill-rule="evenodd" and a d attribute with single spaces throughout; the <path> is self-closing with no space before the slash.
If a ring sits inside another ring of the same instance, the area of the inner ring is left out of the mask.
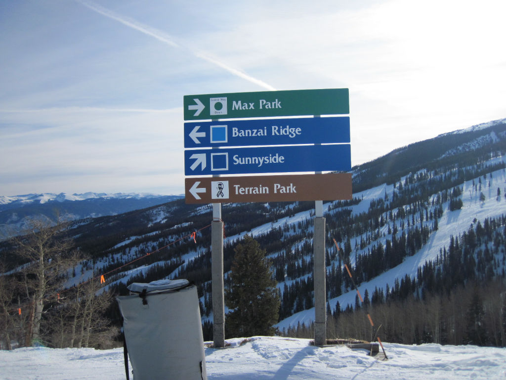
<path id="1" fill-rule="evenodd" d="M 186 287 L 160 289 L 165 285 Z M 147 305 L 139 294 L 117 297 L 134 380 L 206 380 L 197 288 L 188 281 L 165 285 L 129 286 L 131 291 L 151 289 Z"/>

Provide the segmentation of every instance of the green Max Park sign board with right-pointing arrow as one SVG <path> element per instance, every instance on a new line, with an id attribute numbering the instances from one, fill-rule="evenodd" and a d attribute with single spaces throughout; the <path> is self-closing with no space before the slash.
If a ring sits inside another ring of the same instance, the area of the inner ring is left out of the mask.
<path id="1" fill-rule="evenodd" d="M 350 113 L 347 88 L 185 95 L 183 104 L 185 120 Z"/>

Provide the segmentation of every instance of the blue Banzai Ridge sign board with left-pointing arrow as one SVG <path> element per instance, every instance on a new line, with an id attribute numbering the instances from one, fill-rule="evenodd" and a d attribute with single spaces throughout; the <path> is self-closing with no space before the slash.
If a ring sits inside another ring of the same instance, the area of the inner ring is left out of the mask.
<path id="1" fill-rule="evenodd" d="M 185 148 L 350 142 L 349 117 L 199 122 L 184 128 Z"/>

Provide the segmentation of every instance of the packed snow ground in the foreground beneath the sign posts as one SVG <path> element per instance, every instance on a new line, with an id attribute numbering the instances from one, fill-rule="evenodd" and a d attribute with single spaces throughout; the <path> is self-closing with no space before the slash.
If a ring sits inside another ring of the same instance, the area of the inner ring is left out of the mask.
<path id="1" fill-rule="evenodd" d="M 506 378 L 506 349 L 476 346 L 384 344 L 389 360 L 345 346 L 318 348 L 308 339 L 229 339 L 230 348 L 205 349 L 209 380 Z M 118 380 L 122 349 L 21 348 L 0 351 L 2 380 Z M 131 376 L 132 378 L 132 376 Z M 135 377 L 134 377 L 135 380 Z"/>

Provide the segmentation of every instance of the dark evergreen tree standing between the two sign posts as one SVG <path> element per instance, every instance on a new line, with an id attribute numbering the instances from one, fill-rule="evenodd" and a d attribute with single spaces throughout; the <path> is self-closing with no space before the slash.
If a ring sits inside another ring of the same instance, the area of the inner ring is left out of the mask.
<path id="1" fill-rule="evenodd" d="M 238 244 L 234 251 L 231 285 L 225 292 L 225 302 L 230 309 L 226 318 L 227 335 L 273 335 L 280 297 L 265 250 L 246 235 L 244 243 Z"/>

